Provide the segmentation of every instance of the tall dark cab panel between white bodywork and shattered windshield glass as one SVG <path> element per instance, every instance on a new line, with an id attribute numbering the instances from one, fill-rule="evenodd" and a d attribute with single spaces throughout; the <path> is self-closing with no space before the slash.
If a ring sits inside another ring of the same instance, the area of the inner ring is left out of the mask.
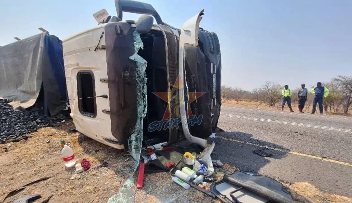
<path id="1" fill-rule="evenodd" d="M 136 62 L 132 27 L 125 22 L 105 26 L 111 133 L 126 147 L 137 122 Z"/>

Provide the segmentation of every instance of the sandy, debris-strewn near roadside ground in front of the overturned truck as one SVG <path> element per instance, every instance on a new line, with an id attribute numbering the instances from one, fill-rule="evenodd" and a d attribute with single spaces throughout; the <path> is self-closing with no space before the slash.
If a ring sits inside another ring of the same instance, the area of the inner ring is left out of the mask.
<path id="1" fill-rule="evenodd" d="M 0 202 L 10 191 L 43 177 L 50 178 L 28 186 L 5 202 L 41 194 L 39 202 L 53 195 L 49 202 L 101 203 L 118 193 L 132 172 L 130 154 L 100 144 L 78 132 L 71 133 L 68 130 L 74 128 L 74 124 L 72 121 L 67 122 L 58 127 L 41 128 L 29 134 L 30 139 L 27 141 L 0 145 Z M 65 170 L 59 144 L 61 139 L 71 143 L 77 162 L 87 159 L 91 163 L 90 169 L 75 179 L 70 179 L 76 174 L 75 171 Z M 47 140 L 50 142 L 47 143 Z M 3 150 L 4 147 L 8 148 L 8 152 Z M 107 165 L 101 166 L 102 161 Z M 236 167 L 225 164 L 215 168 L 215 176 L 222 179 L 224 174 L 232 174 L 235 170 Z M 135 183 L 136 180 L 137 173 L 134 174 Z M 347 197 L 321 192 L 308 183 L 284 184 L 297 202 L 352 202 Z M 220 202 L 193 188 L 184 190 L 171 181 L 171 175 L 167 172 L 145 174 L 144 187 L 136 190 L 135 201 Z"/>

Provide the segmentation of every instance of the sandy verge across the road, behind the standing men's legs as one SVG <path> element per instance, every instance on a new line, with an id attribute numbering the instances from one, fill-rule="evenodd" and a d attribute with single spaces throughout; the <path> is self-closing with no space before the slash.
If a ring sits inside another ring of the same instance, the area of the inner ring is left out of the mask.
<path id="1" fill-rule="evenodd" d="M 255 109 L 270 109 L 270 110 L 281 110 L 281 103 L 277 103 L 275 106 L 269 106 L 268 103 L 266 102 L 258 102 L 258 101 L 242 101 L 242 100 L 225 100 L 225 102 L 222 102 L 223 105 L 228 105 L 228 106 L 239 106 L 239 107 L 245 107 L 245 108 L 255 108 Z M 292 109 L 295 112 L 298 112 L 298 102 L 292 103 Z M 317 106 L 317 111 L 319 113 L 319 107 Z M 285 105 L 284 111 L 289 112 L 290 109 L 288 108 L 287 104 Z M 312 112 L 312 104 L 309 102 L 306 102 L 306 105 L 304 106 L 303 112 L 306 113 L 311 113 Z M 325 112 L 324 114 L 333 114 L 332 112 Z M 345 116 L 352 116 L 352 109 L 350 110 L 350 113 Z"/>

